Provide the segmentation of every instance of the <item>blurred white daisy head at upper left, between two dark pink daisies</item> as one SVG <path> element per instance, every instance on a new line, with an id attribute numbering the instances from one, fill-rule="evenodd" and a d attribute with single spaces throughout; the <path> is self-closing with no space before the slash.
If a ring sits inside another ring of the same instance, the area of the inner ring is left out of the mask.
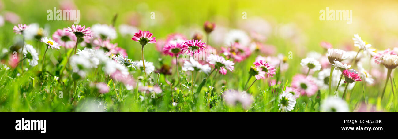
<path id="1" fill-rule="evenodd" d="M 91 27 L 94 38 L 116 39 L 117 33 L 113 27 L 109 25 L 95 24 Z"/>

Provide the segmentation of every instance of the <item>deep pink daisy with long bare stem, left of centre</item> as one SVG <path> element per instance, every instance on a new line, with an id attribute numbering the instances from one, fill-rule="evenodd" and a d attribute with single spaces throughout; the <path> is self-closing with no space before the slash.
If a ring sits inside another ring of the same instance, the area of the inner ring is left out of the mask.
<path id="1" fill-rule="evenodd" d="M 152 38 L 152 33 L 150 33 L 149 31 L 141 31 L 139 30 L 137 33 L 134 34 L 134 37 L 131 38 L 131 40 L 136 41 L 136 42 L 140 42 L 140 44 L 142 45 L 141 47 L 141 62 L 142 62 L 142 68 L 144 68 L 144 73 L 146 76 L 146 69 L 145 69 L 145 64 L 144 64 L 144 46 L 148 43 L 156 43 L 156 37 Z M 153 66 L 153 65 L 152 65 Z M 154 69 L 153 69 L 154 70 Z M 152 71 L 153 71 L 152 70 Z M 148 70 L 150 71 L 150 70 Z"/>

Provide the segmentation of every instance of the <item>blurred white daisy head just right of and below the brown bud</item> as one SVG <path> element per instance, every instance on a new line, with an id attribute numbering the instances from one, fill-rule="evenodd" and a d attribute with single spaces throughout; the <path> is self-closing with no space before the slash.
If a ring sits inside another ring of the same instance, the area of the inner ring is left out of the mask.
<path id="1" fill-rule="evenodd" d="M 224 44 L 228 46 L 235 42 L 238 42 L 242 46 L 248 46 L 250 43 L 250 38 L 246 32 L 234 29 L 226 34 Z"/>

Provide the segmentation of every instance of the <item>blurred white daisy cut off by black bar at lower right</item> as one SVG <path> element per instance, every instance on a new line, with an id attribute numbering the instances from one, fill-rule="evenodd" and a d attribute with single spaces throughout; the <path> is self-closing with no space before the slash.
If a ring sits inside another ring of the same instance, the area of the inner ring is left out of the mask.
<path id="1" fill-rule="evenodd" d="M 321 103 L 321 111 L 323 112 L 348 112 L 348 104 L 341 98 L 329 97 Z"/>

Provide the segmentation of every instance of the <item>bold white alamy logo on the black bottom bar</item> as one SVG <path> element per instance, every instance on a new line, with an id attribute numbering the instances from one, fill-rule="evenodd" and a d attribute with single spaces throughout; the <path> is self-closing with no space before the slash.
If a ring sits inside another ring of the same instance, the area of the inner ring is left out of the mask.
<path id="1" fill-rule="evenodd" d="M 46 121 L 47 120 L 16 120 L 16 130 L 40 130 L 40 133 L 46 133 Z"/>

